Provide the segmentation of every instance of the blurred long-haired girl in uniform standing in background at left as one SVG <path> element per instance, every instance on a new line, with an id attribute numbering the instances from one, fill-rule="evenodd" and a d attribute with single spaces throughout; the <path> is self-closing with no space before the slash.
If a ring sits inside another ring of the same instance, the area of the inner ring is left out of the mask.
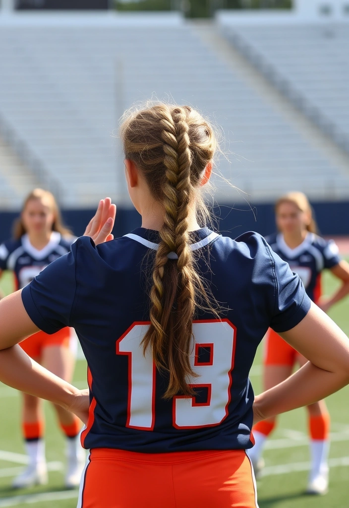
<path id="1" fill-rule="evenodd" d="M 4 270 L 14 274 L 16 290 L 24 288 L 50 263 L 71 249 L 75 238 L 62 225 L 54 196 L 46 190 L 34 189 L 24 200 L 20 217 L 14 225 L 14 235 L 0 245 L 0 275 Z M 75 365 L 76 338 L 68 327 L 53 335 L 38 332 L 20 343 L 32 359 L 66 381 L 71 381 Z M 27 468 L 13 482 L 24 488 L 45 484 L 45 419 L 42 401 L 22 394 L 22 432 L 29 462 Z M 66 436 L 67 469 L 65 486 L 76 487 L 84 465 L 84 451 L 80 446 L 80 420 L 60 405 L 55 405 L 59 426 Z"/>

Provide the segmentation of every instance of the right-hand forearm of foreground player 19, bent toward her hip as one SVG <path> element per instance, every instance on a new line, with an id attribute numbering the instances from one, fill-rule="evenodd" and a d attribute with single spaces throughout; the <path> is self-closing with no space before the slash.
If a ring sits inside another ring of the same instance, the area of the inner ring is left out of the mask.
<path id="1" fill-rule="evenodd" d="M 349 383 L 349 372 L 329 372 L 307 362 L 280 385 L 255 398 L 255 405 L 264 418 L 307 406 L 324 399 Z"/>

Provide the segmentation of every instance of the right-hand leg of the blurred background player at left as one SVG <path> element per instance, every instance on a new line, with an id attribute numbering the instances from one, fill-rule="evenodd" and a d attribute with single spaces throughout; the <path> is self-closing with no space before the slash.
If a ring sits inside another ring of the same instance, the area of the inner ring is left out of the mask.
<path id="1" fill-rule="evenodd" d="M 57 376 L 71 382 L 73 377 L 75 358 L 68 345 L 49 345 L 43 349 L 43 364 Z M 65 486 L 77 487 L 80 484 L 81 473 L 85 465 L 86 454 L 80 444 L 81 422 L 71 412 L 61 406 L 54 406 L 59 425 L 66 436 L 67 468 Z"/>

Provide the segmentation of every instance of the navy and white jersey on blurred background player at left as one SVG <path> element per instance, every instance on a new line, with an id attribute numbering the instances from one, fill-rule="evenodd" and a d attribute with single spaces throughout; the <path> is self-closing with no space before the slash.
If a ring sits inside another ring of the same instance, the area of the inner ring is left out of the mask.
<path id="1" fill-rule="evenodd" d="M 50 241 L 41 250 L 31 245 L 28 235 L 18 240 L 7 240 L 0 245 L 0 270 L 11 270 L 15 275 L 16 289 L 22 289 L 52 261 L 69 252 L 72 240 L 74 238 L 65 239 L 53 231 Z"/>

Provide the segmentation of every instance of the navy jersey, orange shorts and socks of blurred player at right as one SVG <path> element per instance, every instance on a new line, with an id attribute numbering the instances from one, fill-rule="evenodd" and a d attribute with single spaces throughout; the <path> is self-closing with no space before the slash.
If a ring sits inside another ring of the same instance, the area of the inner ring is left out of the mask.
<path id="1" fill-rule="evenodd" d="M 340 262 L 338 248 L 333 240 L 308 233 L 298 247 L 291 249 L 282 233 L 266 237 L 271 249 L 302 279 L 308 297 L 317 302 L 321 296 L 321 276 L 325 268 L 333 268 Z M 269 328 L 265 341 L 265 366 L 285 366 L 290 371 L 297 361 L 298 352 L 280 335 L 278 330 Z M 328 485 L 328 453 L 330 416 L 327 411 L 319 415 L 309 412 L 308 426 L 310 435 L 311 467 L 307 492 L 324 494 Z M 275 427 L 275 419 L 258 422 L 254 428 L 255 446 L 249 452 L 256 472 L 263 467 L 261 454 L 267 437 Z"/>

